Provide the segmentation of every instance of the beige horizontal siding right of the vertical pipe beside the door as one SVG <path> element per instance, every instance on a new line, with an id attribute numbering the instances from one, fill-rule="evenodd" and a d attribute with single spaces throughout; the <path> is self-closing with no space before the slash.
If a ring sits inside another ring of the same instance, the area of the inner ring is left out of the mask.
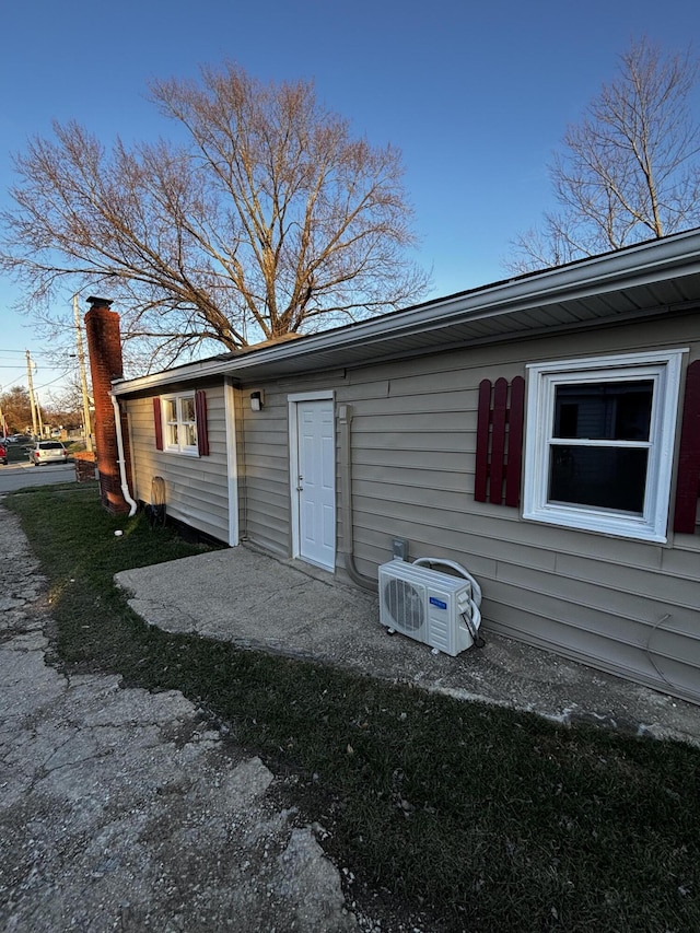
<path id="1" fill-rule="evenodd" d="M 668 545 L 524 522 L 474 501 L 478 385 L 526 363 L 691 347 L 688 319 L 571 338 L 447 352 L 350 373 L 353 541 L 374 576 L 392 539 L 410 558 L 457 560 L 483 587 L 485 632 L 549 648 L 700 700 L 700 560 L 691 536 Z"/>

